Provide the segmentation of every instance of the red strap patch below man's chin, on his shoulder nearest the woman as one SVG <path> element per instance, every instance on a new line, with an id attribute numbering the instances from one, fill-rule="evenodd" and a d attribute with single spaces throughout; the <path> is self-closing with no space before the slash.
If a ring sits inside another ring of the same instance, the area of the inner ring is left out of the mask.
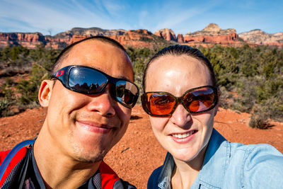
<path id="1" fill-rule="evenodd" d="M 99 171 L 101 176 L 101 188 L 113 188 L 114 183 L 120 179 L 104 161 L 101 161 Z"/>

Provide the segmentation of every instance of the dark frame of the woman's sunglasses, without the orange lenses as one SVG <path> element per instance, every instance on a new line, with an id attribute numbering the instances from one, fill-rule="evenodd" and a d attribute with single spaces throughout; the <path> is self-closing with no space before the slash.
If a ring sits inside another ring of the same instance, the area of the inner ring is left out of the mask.
<path id="1" fill-rule="evenodd" d="M 213 101 L 212 107 L 208 108 L 207 110 L 202 110 L 202 111 L 200 111 L 200 112 L 192 112 L 192 111 L 190 111 L 189 108 L 187 108 L 187 107 L 185 106 L 185 104 L 183 103 L 183 98 L 184 98 L 184 96 L 185 96 L 187 93 L 190 93 L 190 92 L 192 92 L 192 91 L 195 91 L 195 90 L 200 89 L 200 88 L 205 88 L 205 87 L 212 88 L 212 90 L 213 90 L 213 92 L 214 92 L 214 96 L 215 96 L 215 97 L 214 97 L 214 101 Z M 175 100 L 175 105 L 173 106 L 173 109 L 171 110 L 171 112 L 168 113 L 168 114 L 166 114 L 166 115 L 156 115 L 156 114 L 151 113 L 150 110 L 149 110 L 149 109 L 147 108 L 147 106 L 146 106 L 146 98 L 147 98 L 146 94 L 147 94 L 147 93 L 165 94 L 165 95 L 168 95 L 168 96 L 171 96 L 172 98 L 174 98 L 174 100 Z M 217 105 L 218 102 L 219 102 L 219 88 L 216 87 L 216 86 L 209 86 L 209 85 L 208 85 L 208 86 L 199 86 L 199 87 L 196 87 L 196 88 L 190 88 L 189 90 L 185 91 L 185 93 L 183 93 L 183 95 L 180 96 L 180 97 L 173 96 L 173 94 L 168 93 L 168 92 L 164 92 L 164 91 L 150 91 L 150 92 L 143 93 L 143 94 L 141 95 L 141 105 L 142 105 L 142 108 L 144 109 L 144 111 L 145 111 L 147 114 L 149 114 L 149 115 L 151 115 L 151 116 L 154 116 L 154 117 L 168 117 L 168 116 L 173 115 L 173 113 L 175 112 L 175 109 L 177 108 L 177 106 L 178 106 L 179 104 L 182 104 L 183 107 L 184 107 L 184 108 L 187 110 L 187 112 L 190 113 L 190 114 L 205 113 L 205 112 L 207 112 L 207 111 L 212 110 L 213 108 L 215 108 L 215 106 Z"/>

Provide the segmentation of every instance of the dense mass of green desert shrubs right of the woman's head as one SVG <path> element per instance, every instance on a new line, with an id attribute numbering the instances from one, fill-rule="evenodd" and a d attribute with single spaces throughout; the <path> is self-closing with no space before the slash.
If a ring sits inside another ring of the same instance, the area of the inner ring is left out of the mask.
<path id="1" fill-rule="evenodd" d="M 265 117 L 260 116 L 261 119 L 283 120 L 282 48 L 246 44 L 243 47 L 215 45 L 200 50 L 212 62 L 221 90 L 236 91 L 236 96 L 228 96 L 230 108 L 252 113 L 252 122 L 258 110 L 265 110 Z"/>

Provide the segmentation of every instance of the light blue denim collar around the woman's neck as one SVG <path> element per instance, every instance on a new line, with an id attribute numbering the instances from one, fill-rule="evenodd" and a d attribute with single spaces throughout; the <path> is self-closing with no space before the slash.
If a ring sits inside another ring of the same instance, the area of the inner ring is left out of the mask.
<path id="1" fill-rule="evenodd" d="M 204 164 L 191 188 L 199 188 L 200 184 L 207 187 L 221 188 L 225 168 L 229 163 L 229 156 L 229 142 L 213 129 L 212 137 L 209 139 L 207 151 L 205 152 Z M 167 153 L 163 169 L 158 178 L 159 188 L 171 188 L 171 175 L 174 167 L 173 156 Z M 217 176 L 212 177 L 215 175 L 215 171 L 217 171 Z"/>

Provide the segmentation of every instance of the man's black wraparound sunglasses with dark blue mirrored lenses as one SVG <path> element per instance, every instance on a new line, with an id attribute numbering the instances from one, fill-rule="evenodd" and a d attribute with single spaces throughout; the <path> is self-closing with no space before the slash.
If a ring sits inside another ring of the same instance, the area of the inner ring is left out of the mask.
<path id="1" fill-rule="evenodd" d="M 139 97 L 139 88 L 131 81 L 114 78 L 91 67 L 64 67 L 52 74 L 51 78 L 58 79 L 69 90 L 83 94 L 98 94 L 108 83 L 113 84 L 112 97 L 127 108 L 134 107 Z"/>

